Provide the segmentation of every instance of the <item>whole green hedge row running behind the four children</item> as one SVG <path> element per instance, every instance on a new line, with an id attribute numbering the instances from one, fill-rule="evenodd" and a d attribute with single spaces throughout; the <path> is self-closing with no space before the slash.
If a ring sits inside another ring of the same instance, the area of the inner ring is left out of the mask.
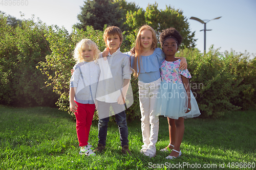
<path id="1" fill-rule="evenodd" d="M 75 65 L 72 52 L 78 41 L 89 38 L 103 51 L 103 32 L 87 27 L 86 31 L 73 28 L 47 27 L 33 20 L 22 26 L 6 25 L 0 20 L 0 104 L 14 106 L 52 106 L 69 111 L 70 70 Z M 125 36 L 121 51 L 131 48 L 133 36 Z M 256 60 L 248 54 L 220 53 L 210 48 L 206 54 L 197 49 L 181 50 L 192 75 L 191 90 L 196 95 L 202 117 L 219 117 L 238 109 L 256 108 Z M 126 110 L 128 119 L 140 117 L 138 80 L 131 80 L 134 104 Z M 44 87 L 44 88 L 42 88 Z M 73 114 L 72 114 L 73 115 Z M 96 117 L 95 117 L 96 118 Z"/>

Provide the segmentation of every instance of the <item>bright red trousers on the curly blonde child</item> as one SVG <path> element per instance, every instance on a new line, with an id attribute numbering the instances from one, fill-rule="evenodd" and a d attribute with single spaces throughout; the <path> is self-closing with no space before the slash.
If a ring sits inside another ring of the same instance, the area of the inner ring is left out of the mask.
<path id="1" fill-rule="evenodd" d="M 76 102 L 76 101 L 75 101 Z M 95 104 L 81 104 L 76 102 L 76 133 L 79 141 L 79 147 L 88 144 L 89 133 L 92 125 Z"/>

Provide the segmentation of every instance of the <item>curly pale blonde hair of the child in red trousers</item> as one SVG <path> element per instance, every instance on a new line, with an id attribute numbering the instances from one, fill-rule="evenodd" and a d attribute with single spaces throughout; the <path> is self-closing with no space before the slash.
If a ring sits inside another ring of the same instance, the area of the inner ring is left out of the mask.
<path id="1" fill-rule="evenodd" d="M 93 50 L 93 53 L 94 53 L 93 60 L 98 59 L 100 51 L 96 43 L 90 39 L 82 39 L 80 42 L 76 44 L 76 47 L 74 50 L 74 59 L 76 60 L 77 63 L 83 62 L 82 50 L 86 47 L 86 45 L 88 45 L 89 48 Z"/>

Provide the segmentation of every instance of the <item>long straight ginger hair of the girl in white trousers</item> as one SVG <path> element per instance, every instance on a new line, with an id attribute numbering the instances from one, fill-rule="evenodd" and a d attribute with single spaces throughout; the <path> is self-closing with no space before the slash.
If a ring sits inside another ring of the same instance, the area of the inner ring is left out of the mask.
<path id="1" fill-rule="evenodd" d="M 157 36 L 156 36 L 156 32 L 155 30 L 148 26 L 148 25 L 144 25 L 142 26 L 137 34 L 137 38 L 136 38 L 136 43 L 135 43 L 135 58 L 134 58 L 134 62 L 133 62 L 133 69 L 134 69 L 134 77 L 138 77 L 140 74 L 140 63 L 141 63 L 141 52 L 143 51 L 143 47 L 141 46 L 141 32 L 143 30 L 150 30 L 152 32 L 152 45 L 151 45 L 151 50 L 155 50 L 155 48 L 157 48 Z M 131 59 L 130 59 L 131 60 Z M 138 63 L 138 68 L 137 68 L 137 63 Z M 142 63 L 141 63 L 142 65 Z"/>

